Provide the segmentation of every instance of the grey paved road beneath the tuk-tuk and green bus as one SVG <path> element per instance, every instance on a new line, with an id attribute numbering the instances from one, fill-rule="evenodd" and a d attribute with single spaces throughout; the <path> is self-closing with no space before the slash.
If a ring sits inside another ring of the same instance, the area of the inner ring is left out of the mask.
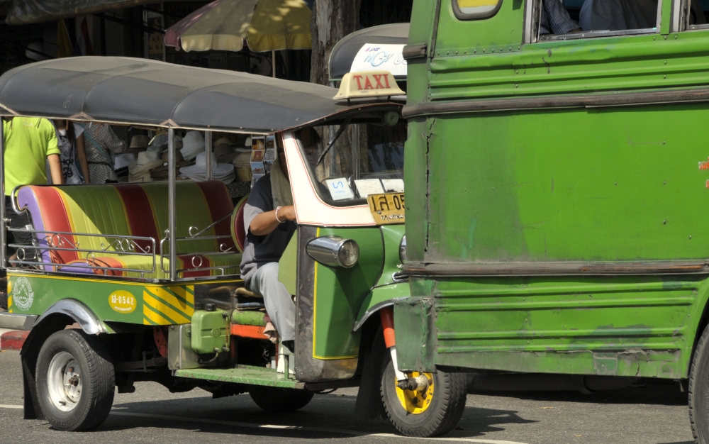
<path id="1" fill-rule="evenodd" d="M 46 421 L 24 421 L 17 352 L 0 353 L 0 443 L 306 443 L 404 444 L 691 444 L 686 394 L 679 384 L 645 382 L 615 392 L 470 394 L 459 428 L 445 438 L 412 440 L 384 422 L 352 419 L 356 389 L 316 396 L 294 414 L 264 414 L 248 395 L 211 399 L 195 389 L 170 394 L 136 384 L 117 394 L 96 431 L 62 434 Z"/>

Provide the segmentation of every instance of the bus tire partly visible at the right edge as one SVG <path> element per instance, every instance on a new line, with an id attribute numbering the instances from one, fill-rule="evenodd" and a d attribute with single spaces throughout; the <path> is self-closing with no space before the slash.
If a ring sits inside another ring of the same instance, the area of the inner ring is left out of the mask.
<path id="1" fill-rule="evenodd" d="M 698 444 L 709 444 L 709 326 L 699 338 L 689 370 L 689 422 Z"/>

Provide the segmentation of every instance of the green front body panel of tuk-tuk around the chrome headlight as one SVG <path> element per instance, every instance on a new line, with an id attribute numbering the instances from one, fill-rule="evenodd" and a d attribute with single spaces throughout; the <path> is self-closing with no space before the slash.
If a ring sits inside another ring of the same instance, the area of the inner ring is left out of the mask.
<path id="1" fill-rule="evenodd" d="M 313 357 L 357 357 L 360 333 L 352 333 L 351 327 L 362 302 L 381 275 L 384 263 L 381 231 L 379 228 L 319 228 L 318 236 L 325 235 L 355 240 L 359 244 L 359 260 L 352 268 L 316 265 Z"/>

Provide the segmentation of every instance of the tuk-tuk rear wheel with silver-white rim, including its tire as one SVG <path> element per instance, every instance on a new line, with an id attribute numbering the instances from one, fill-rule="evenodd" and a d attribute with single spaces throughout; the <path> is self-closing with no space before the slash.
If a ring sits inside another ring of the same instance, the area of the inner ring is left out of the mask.
<path id="1" fill-rule="evenodd" d="M 35 384 L 40 409 L 61 431 L 100 426 L 113 404 L 115 375 L 108 350 L 95 336 L 62 330 L 42 345 Z"/>

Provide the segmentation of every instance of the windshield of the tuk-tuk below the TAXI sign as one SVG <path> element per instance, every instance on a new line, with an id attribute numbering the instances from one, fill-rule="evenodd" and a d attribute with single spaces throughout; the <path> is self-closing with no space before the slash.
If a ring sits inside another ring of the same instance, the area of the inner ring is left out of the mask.
<path id="1" fill-rule="evenodd" d="M 374 122 L 305 128 L 296 137 L 311 181 L 328 204 L 364 204 L 369 194 L 403 192 L 406 121 L 398 113 Z"/>

